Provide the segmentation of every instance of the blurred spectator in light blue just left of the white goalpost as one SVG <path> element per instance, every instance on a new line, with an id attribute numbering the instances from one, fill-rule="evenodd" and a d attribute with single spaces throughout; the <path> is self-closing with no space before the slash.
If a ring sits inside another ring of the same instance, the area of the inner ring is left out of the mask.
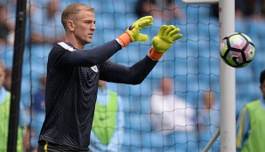
<path id="1" fill-rule="evenodd" d="M 208 141 L 212 139 L 213 134 L 219 128 L 220 114 L 219 109 L 216 108 L 215 93 L 211 91 L 203 94 L 203 108 L 198 109 L 198 140 L 199 149 L 203 150 Z M 219 151 L 217 142 L 213 145 L 213 151 Z"/>

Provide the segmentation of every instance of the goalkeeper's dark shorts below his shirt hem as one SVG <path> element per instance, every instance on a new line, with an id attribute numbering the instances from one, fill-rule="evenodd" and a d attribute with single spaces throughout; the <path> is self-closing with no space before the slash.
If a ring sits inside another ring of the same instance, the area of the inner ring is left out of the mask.
<path id="1" fill-rule="evenodd" d="M 42 140 L 38 143 L 37 152 L 90 152 L 90 150 L 84 151 Z"/>

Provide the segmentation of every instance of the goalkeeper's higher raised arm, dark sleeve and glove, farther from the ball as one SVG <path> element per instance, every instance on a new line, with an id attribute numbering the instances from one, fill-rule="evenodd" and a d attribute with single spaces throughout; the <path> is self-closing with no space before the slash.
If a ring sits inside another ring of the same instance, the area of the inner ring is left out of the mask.
<path id="1" fill-rule="evenodd" d="M 116 40 L 110 41 L 107 44 L 102 44 L 98 47 L 89 50 L 76 50 L 71 52 L 68 61 L 72 65 L 92 67 L 108 60 L 113 54 L 122 49 L 125 45 L 140 41 L 148 40 L 148 36 L 141 34 L 141 29 L 149 27 L 153 24 L 153 17 L 146 16 L 136 20 L 132 25 L 126 29 L 124 34 L 118 36 Z"/>

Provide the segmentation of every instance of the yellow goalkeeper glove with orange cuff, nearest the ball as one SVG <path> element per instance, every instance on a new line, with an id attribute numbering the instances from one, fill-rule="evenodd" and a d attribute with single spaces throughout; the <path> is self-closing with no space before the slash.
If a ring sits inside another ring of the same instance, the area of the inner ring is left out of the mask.
<path id="1" fill-rule="evenodd" d="M 180 28 L 176 28 L 173 25 L 163 25 L 158 35 L 152 39 L 152 47 L 149 50 L 149 57 L 152 60 L 159 60 L 164 52 L 166 52 L 174 41 L 180 39 L 182 37 L 179 32 Z"/>

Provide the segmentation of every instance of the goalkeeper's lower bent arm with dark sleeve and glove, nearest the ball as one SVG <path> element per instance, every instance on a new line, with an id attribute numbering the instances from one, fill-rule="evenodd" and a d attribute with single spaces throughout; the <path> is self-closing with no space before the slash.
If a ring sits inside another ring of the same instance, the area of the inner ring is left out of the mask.
<path id="1" fill-rule="evenodd" d="M 100 79 L 121 84 L 141 84 L 149 75 L 149 72 L 156 66 L 157 61 L 171 47 L 173 42 L 182 37 L 179 32 L 180 28 L 176 28 L 173 25 L 163 25 L 157 36 L 152 40 L 153 44 L 148 56 L 130 68 L 105 62 L 100 68 Z"/>

